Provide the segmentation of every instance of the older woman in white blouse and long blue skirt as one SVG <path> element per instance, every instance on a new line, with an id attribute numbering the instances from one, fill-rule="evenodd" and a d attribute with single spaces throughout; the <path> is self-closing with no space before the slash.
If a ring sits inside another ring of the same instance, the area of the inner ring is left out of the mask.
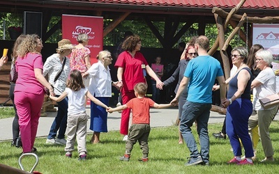
<path id="1" fill-rule="evenodd" d="M 107 50 L 99 52 L 98 63 L 94 63 L 89 70 L 84 73 L 84 77 L 90 77 L 89 92 L 104 104 L 109 104 L 112 97 L 112 86 L 117 86 L 118 82 L 113 82 L 110 77 L 109 65 L 112 64 L 112 55 Z M 107 132 L 107 111 L 91 102 L 91 124 L 93 130 L 91 143 L 100 141 L 100 132 Z"/>

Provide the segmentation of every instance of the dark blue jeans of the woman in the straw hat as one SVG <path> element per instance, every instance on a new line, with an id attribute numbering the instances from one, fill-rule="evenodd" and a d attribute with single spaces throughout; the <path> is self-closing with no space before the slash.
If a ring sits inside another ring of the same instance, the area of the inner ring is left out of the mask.
<path id="1" fill-rule="evenodd" d="M 59 97 L 59 95 L 56 95 Z M 52 122 L 52 127 L 50 127 L 50 134 L 48 134 L 47 139 L 54 139 L 56 133 L 59 129 L 59 134 L 57 139 L 64 139 L 67 127 L 67 115 L 68 115 L 68 97 L 64 98 L 58 104 L 58 111 L 55 119 Z"/>

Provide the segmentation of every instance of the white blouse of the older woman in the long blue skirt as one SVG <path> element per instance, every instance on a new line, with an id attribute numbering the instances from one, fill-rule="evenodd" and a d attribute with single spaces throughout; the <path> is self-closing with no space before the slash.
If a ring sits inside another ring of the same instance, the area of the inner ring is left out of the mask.
<path id="1" fill-rule="evenodd" d="M 98 61 L 91 65 L 89 72 L 89 92 L 95 97 L 112 97 L 112 77 L 110 68 L 105 68 L 103 63 Z"/>

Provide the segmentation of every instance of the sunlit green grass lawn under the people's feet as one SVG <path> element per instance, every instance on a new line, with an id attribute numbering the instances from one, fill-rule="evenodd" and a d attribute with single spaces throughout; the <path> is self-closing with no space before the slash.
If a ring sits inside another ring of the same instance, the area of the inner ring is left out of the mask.
<path id="1" fill-rule="evenodd" d="M 43 138 L 36 139 L 35 147 L 38 149 L 39 164 L 35 171 L 40 173 L 277 173 L 279 171 L 279 122 L 271 124 L 271 138 L 275 150 L 276 161 L 271 164 L 260 164 L 264 159 L 262 144 L 257 147 L 257 161 L 254 166 L 227 165 L 233 154 L 229 140 L 214 139 L 213 132 L 221 129 L 221 124 L 209 125 L 210 134 L 210 166 L 184 166 L 189 156 L 185 144 L 178 144 L 177 127 L 158 127 L 151 129 L 149 136 L 149 161 L 142 163 L 137 161 L 142 157 L 138 144 L 134 146 L 130 161 L 119 161 L 119 157 L 125 152 L 125 143 L 118 131 L 102 133 L 101 143 L 91 144 L 91 134 L 87 136 L 86 148 L 88 158 L 86 161 L 77 160 L 77 150 L 73 152 L 73 158 L 67 159 L 62 145 L 47 145 Z M 197 140 L 197 132 L 193 129 Z M 20 168 L 17 161 L 20 157 L 20 148 L 10 147 L 10 142 L 0 143 L 0 163 L 15 168 Z M 32 157 L 22 159 L 24 168 L 30 169 L 34 163 Z M 1 173 L 1 171 L 0 171 Z"/>

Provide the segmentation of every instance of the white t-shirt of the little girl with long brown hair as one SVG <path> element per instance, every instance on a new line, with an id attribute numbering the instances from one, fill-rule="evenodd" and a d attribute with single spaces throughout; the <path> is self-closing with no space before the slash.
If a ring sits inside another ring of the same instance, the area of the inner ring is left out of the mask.
<path id="1" fill-rule="evenodd" d="M 68 116 L 84 113 L 84 97 L 87 92 L 87 88 L 81 88 L 78 91 L 73 91 L 70 88 L 66 88 L 65 92 L 68 94 Z"/>

